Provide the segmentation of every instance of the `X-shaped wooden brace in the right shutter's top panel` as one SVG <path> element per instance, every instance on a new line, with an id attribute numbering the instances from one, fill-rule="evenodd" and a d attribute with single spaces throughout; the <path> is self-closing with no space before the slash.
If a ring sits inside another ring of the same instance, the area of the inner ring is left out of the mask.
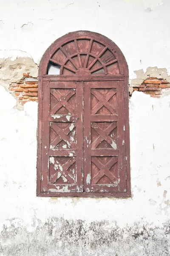
<path id="1" fill-rule="evenodd" d="M 105 96 L 99 93 L 96 89 L 91 89 L 91 93 L 99 100 L 99 102 L 91 109 L 91 114 L 96 114 L 103 106 L 105 106 L 111 113 L 116 113 L 116 110 L 113 108 L 110 102 L 108 102 L 115 94 L 114 89 L 109 90 Z"/>

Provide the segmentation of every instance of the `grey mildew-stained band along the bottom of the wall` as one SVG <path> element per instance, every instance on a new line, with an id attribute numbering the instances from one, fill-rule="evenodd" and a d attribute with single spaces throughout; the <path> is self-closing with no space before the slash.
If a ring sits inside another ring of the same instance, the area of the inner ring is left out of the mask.
<path id="1" fill-rule="evenodd" d="M 114 222 L 49 218 L 33 221 L 28 231 L 22 221 L 3 225 L 0 255 L 3 256 L 167 256 L 170 254 L 170 222 L 162 228 L 134 223 L 120 228 Z"/>

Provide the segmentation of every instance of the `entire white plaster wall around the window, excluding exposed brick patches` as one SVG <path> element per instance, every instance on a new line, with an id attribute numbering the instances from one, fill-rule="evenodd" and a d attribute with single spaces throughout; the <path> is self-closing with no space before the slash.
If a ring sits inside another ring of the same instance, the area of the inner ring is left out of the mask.
<path id="1" fill-rule="evenodd" d="M 106 35 L 120 47 L 130 79 L 135 78 L 134 70 L 147 67 L 170 70 L 168 0 L 0 4 L 2 58 L 31 55 L 38 64 L 54 40 L 82 29 Z M 128 199 L 37 198 L 37 103 L 26 103 L 23 111 L 15 105 L 13 96 L 0 86 L 0 256 L 170 255 L 170 95 L 155 99 L 134 92 L 130 99 Z M 91 231 L 94 225 L 99 226 Z M 111 233 L 118 240 L 108 238 Z M 140 234 L 134 238 L 136 233 Z M 103 237 L 110 243 L 101 245 Z"/>

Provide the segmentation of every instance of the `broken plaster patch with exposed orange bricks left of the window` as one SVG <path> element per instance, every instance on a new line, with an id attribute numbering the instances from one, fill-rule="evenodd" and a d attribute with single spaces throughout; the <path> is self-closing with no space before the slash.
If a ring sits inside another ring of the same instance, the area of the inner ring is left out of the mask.
<path id="1" fill-rule="evenodd" d="M 21 106 L 26 102 L 37 101 L 38 65 L 31 56 L 11 50 L 0 52 L 0 57 L 0 85 L 17 100 L 16 107 L 23 109 Z"/>

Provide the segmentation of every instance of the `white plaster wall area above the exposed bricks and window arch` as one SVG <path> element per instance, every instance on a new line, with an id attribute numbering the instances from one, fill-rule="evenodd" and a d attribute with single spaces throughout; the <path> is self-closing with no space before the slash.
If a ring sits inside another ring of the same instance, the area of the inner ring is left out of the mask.
<path id="1" fill-rule="evenodd" d="M 76 30 L 101 33 L 127 59 L 130 79 L 147 67 L 170 70 L 169 0 L 0 0 L 0 49 L 43 52 Z"/>

